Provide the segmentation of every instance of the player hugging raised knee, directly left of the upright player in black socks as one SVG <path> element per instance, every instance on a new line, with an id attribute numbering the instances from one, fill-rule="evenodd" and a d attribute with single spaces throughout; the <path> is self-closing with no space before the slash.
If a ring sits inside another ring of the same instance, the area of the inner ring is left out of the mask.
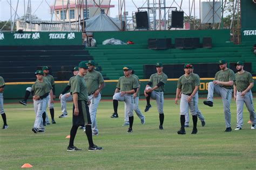
<path id="1" fill-rule="evenodd" d="M 157 110 L 159 113 L 159 129 L 163 130 L 164 123 L 164 85 L 167 82 L 167 75 L 163 73 L 163 63 L 157 62 L 156 69 L 157 73 L 152 74 L 150 76 L 150 80 L 146 85 L 144 90 L 144 95 L 146 96 L 147 105 L 145 108 L 145 112 L 149 111 L 151 108 L 150 98 L 156 100 L 157 102 Z M 152 88 L 149 88 L 151 87 Z"/>

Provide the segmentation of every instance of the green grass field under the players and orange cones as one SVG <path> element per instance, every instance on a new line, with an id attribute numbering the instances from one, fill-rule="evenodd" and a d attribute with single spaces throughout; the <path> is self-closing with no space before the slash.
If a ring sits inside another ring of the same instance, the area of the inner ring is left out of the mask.
<path id="1" fill-rule="evenodd" d="M 46 126 L 46 132 L 31 131 L 35 121 L 32 104 L 6 104 L 5 112 L 9 128 L 0 130 L 0 169 L 19 169 L 25 163 L 32 169 L 256 169 L 256 130 L 247 124 L 245 108 L 244 126 L 234 131 L 236 125 L 235 103 L 232 101 L 232 132 L 224 132 L 225 121 L 221 100 L 214 101 L 210 108 L 199 100 L 199 109 L 205 116 L 206 125 L 198 121 L 198 134 L 192 131 L 192 118 L 187 134 L 178 135 L 180 128 L 179 105 L 174 100 L 165 100 L 164 130 L 159 130 L 156 103 L 145 113 L 146 124 L 140 124 L 134 115 L 133 133 L 127 134 L 124 123 L 124 104 L 119 104 L 119 118 L 110 118 L 112 102 L 100 102 L 97 121 L 99 136 L 94 143 L 103 146 L 103 151 L 89 152 L 86 135 L 78 130 L 75 146 L 79 152 L 68 152 L 66 147 L 71 128 L 69 116 L 58 118 L 60 103 L 55 104 L 57 124 Z M 145 101 L 140 101 L 144 110 Z M 49 114 L 50 116 L 50 114 Z M 2 118 L 1 118 L 1 125 Z M 2 127 L 2 126 L 1 126 Z"/>

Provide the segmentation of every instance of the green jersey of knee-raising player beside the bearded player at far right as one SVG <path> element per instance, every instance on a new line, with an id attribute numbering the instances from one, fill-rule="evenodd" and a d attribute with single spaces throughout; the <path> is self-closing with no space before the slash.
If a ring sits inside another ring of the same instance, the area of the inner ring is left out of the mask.
<path id="1" fill-rule="evenodd" d="M 232 69 L 226 69 L 225 71 L 220 70 L 215 74 L 214 80 L 228 82 L 235 81 L 235 74 Z M 224 87 L 226 89 L 233 89 L 233 86 L 223 86 L 220 84 L 220 87 Z"/>

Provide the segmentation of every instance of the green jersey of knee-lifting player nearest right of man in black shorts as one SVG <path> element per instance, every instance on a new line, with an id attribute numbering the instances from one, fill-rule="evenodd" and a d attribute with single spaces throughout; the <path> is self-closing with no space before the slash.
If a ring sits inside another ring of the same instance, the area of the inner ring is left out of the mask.
<path id="1" fill-rule="evenodd" d="M 138 88 L 139 82 L 134 76 L 125 77 L 122 76 L 119 78 L 117 83 L 117 88 L 120 89 L 120 91 L 130 91 L 134 88 Z"/>

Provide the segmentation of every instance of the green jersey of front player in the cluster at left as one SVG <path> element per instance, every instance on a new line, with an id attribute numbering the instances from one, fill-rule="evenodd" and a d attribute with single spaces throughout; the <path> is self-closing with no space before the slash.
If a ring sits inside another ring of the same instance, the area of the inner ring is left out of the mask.
<path id="1" fill-rule="evenodd" d="M 34 91 L 33 95 L 37 96 L 43 96 L 46 93 L 49 93 L 50 90 L 52 89 L 51 84 L 48 81 L 45 81 L 43 79 L 43 82 L 40 82 L 37 80 L 33 85 L 32 85 L 32 91 Z"/>

